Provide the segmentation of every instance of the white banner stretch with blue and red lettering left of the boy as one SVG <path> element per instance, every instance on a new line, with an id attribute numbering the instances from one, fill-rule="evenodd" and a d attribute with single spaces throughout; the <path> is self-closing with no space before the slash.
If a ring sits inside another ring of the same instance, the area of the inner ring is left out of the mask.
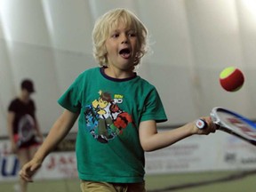
<path id="1" fill-rule="evenodd" d="M 10 142 L 0 142 L 0 181 L 18 180 L 20 164 L 17 156 L 10 154 Z M 35 180 L 77 178 L 75 152 L 51 153 L 36 172 Z"/>

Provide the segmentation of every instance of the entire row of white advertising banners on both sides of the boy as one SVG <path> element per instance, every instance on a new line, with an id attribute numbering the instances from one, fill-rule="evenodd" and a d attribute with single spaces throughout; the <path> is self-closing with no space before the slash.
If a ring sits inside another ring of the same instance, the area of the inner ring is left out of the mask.
<path id="1" fill-rule="evenodd" d="M 9 145 L 0 140 L 0 181 L 18 179 L 19 161 Z M 192 136 L 146 153 L 147 174 L 255 168 L 256 147 L 226 132 Z M 35 180 L 64 178 L 77 178 L 75 151 L 51 153 L 35 176 Z"/>

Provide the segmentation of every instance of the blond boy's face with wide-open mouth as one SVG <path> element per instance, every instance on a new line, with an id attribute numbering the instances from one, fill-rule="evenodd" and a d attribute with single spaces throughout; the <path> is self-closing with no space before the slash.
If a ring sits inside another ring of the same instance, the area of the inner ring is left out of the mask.
<path id="1" fill-rule="evenodd" d="M 132 70 L 133 61 L 139 51 L 136 32 L 119 22 L 112 28 L 106 40 L 108 66 L 119 70 Z"/>

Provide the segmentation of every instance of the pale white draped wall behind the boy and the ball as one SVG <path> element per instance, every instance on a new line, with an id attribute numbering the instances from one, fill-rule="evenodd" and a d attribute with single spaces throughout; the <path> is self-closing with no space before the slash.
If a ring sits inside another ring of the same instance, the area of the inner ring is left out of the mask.
<path id="1" fill-rule="evenodd" d="M 48 132 L 56 100 L 92 57 L 92 28 L 104 12 L 125 7 L 149 30 L 152 52 L 140 76 L 156 85 L 169 121 L 184 124 L 222 106 L 256 119 L 256 3 L 254 0 L 0 0 L 0 135 L 20 80 L 35 81 L 37 116 Z M 223 68 L 244 71 L 239 92 L 220 88 Z M 73 130 L 76 131 L 76 128 Z"/>

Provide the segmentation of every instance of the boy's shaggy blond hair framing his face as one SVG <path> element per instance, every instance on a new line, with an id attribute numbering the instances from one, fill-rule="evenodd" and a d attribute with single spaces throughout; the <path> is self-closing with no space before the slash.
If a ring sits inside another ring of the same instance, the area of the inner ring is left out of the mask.
<path id="1" fill-rule="evenodd" d="M 120 21 L 124 22 L 127 28 L 132 28 L 138 36 L 140 49 L 133 62 L 134 66 L 140 63 L 140 59 L 147 52 L 148 29 L 138 17 L 126 9 L 118 8 L 111 10 L 96 20 L 92 30 L 93 56 L 99 61 L 100 66 L 108 66 L 105 42 L 109 36 L 110 30 L 116 27 Z"/>

